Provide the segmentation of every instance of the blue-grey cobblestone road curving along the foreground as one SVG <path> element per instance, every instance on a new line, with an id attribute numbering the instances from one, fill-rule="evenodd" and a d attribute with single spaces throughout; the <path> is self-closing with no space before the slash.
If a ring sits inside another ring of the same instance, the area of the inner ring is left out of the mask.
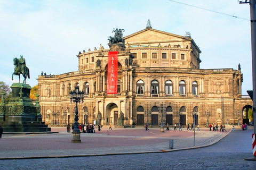
<path id="1" fill-rule="evenodd" d="M 0 160 L 0 169 L 256 169 L 244 160 L 252 157 L 252 133 L 236 129 L 212 146 L 172 152 Z"/>

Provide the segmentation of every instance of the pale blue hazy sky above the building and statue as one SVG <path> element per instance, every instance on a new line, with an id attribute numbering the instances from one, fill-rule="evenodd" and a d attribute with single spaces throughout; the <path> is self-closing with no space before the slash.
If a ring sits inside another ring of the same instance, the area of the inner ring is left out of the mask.
<path id="1" fill-rule="evenodd" d="M 178 0 L 177 0 L 178 1 Z M 168 0 L 150 1 L 12 1 L 0 0 L 0 81 L 9 86 L 13 58 L 22 54 L 30 69 L 31 87 L 41 72 L 62 74 L 78 70 L 79 51 L 108 49 L 113 28 L 124 36 L 146 28 L 184 36 L 186 31 L 201 49 L 201 69 L 237 70 L 241 64 L 242 94 L 252 89 L 250 5 L 237 0 L 179 0 L 228 15 Z M 23 80 L 23 79 L 22 79 Z"/>

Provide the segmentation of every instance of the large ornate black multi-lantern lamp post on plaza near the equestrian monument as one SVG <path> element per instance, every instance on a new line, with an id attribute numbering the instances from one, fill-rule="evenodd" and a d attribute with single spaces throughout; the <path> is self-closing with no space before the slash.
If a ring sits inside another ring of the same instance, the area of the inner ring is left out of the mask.
<path id="1" fill-rule="evenodd" d="M 79 91 L 79 87 L 75 87 L 75 90 L 73 91 L 70 91 L 69 92 L 69 95 L 70 95 L 70 103 L 72 103 L 72 101 L 74 103 L 76 103 L 76 111 L 75 111 L 75 123 L 74 123 L 74 130 L 72 132 L 73 134 L 73 138 L 71 140 L 71 142 L 73 143 L 81 143 L 81 138 L 80 138 L 80 131 L 79 131 L 79 128 L 78 128 L 78 109 L 77 109 L 77 103 L 80 103 L 82 101 L 83 103 L 83 99 L 84 99 L 84 91 Z"/>

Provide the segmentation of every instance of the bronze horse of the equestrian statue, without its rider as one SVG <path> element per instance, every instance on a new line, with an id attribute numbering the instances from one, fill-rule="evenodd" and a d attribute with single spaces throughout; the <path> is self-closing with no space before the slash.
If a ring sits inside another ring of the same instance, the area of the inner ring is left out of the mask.
<path id="1" fill-rule="evenodd" d="M 22 71 L 21 64 L 20 64 L 19 59 L 17 57 L 15 57 L 13 59 L 13 65 L 15 65 L 15 68 L 14 68 L 14 72 L 12 74 L 12 80 L 13 80 L 13 75 L 19 75 L 19 83 L 20 83 L 20 74 L 22 74 L 23 77 L 24 77 L 23 83 L 26 84 L 27 77 L 30 79 L 28 67 L 25 66 L 24 71 Z"/>

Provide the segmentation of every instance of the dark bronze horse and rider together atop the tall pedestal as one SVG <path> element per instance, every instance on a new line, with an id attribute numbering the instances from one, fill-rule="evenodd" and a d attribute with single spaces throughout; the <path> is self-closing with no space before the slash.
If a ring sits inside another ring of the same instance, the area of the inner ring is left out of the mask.
<path id="1" fill-rule="evenodd" d="M 12 74 L 12 80 L 13 80 L 13 75 L 19 75 L 19 83 L 20 83 L 20 74 L 22 74 L 24 77 L 23 83 L 26 84 L 26 79 L 27 77 L 30 79 L 30 75 L 29 75 L 29 69 L 26 66 L 26 60 L 25 58 L 23 58 L 23 55 L 20 55 L 19 59 L 15 57 L 13 59 L 13 65 L 15 65 L 15 67 L 14 67 L 14 72 Z"/>

